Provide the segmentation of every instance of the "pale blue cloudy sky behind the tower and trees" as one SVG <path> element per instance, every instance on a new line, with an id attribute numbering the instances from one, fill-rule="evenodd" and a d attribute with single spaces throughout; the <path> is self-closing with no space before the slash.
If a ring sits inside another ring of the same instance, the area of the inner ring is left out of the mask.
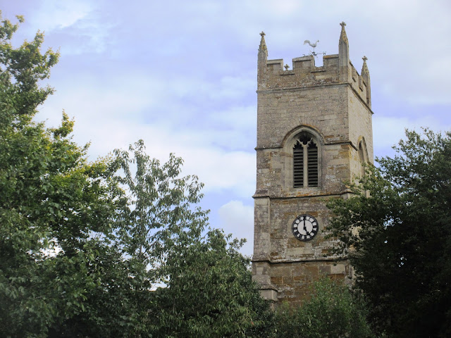
<path id="1" fill-rule="evenodd" d="M 404 128 L 451 130 L 449 0 L 0 0 L 25 23 L 14 43 L 45 33 L 61 58 L 39 108 L 49 127 L 62 111 L 93 161 L 143 139 L 147 153 L 185 160 L 204 182 L 212 227 L 253 246 L 257 50 L 268 59 L 338 54 L 345 21 L 357 70 L 368 58 L 375 156 L 393 155 Z M 316 61 L 321 65 L 321 59 Z"/>

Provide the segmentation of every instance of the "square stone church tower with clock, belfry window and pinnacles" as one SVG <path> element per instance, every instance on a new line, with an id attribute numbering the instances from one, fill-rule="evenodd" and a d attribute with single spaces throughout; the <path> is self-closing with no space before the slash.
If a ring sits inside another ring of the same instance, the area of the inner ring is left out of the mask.
<path id="1" fill-rule="evenodd" d="M 359 75 L 342 26 L 338 54 L 268 60 L 264 33 L 257 75 L 257 190 L 252 275 L 273 301 L 299 302 L 322 275 L 352 276 L 330 256 L 328 199 L 347 198 L 347 182 L 373 162 L 366 57 Z"/>

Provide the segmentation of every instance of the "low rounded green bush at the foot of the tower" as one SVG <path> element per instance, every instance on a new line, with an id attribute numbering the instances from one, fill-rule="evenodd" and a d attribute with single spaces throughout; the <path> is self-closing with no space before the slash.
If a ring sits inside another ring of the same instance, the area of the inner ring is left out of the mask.
<path id="1" fill-rule="evenodd" d="M 278 338 L 373 337 L 366 308 L 358 294 L 345 285 L 323 278 L 312 286 L 311 299 L 302 306 L 283 303 L 276 311 Z"/>

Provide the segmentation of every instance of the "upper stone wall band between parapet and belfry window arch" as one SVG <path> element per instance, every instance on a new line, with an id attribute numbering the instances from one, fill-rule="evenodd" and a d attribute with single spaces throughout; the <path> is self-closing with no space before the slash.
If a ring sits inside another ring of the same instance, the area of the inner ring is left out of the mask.
<path id="1" fill-rule="evenodd" d="M 259 90 L 257 149 L 283 146 L 301 125 L 319 130 L 326 144 L 347 142 L 347 90 L 343 84 Z"/>

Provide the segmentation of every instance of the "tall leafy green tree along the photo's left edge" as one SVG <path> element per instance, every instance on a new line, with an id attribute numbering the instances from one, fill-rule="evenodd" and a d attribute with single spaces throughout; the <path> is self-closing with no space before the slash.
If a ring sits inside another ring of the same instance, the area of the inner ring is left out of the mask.
<path id="1" fill-rule="evenodd" d="M 88 163 L 87 147 L 71 141 L 66 114 L 57 128 L 32 120 L 53 92 L 39 81 L 58 54 L 41 54 L 39 32 L 13 48 L 17 29 L 0 26 L 0 333 L 45 337 L 85 311 L 97 287 L 89 271 L 111 232 L 116 186 L 109 164 Z"/>

